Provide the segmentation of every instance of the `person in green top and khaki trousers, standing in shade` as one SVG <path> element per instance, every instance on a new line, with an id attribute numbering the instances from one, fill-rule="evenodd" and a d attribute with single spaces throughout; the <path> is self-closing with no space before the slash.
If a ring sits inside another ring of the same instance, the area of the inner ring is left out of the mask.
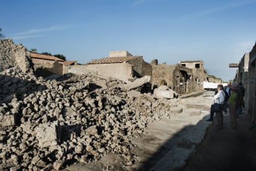
<path id="1" fill-rule="evenodd" d="M 231 120 L 231 128 L 236 129 L 237 127 L 237 115 L 236 115 L 236 111 L 237 111 L 237 98 L 238 98 L 238 93 L 236 91 L 237 88 L 237 84 L 236 83 L 232 83 L 230 86 L 231 89 L 231 94 L 229 96 L 228 99 L 228 106 L 229 106 L 229 115 L 230 115 L 230 120 Z"/>

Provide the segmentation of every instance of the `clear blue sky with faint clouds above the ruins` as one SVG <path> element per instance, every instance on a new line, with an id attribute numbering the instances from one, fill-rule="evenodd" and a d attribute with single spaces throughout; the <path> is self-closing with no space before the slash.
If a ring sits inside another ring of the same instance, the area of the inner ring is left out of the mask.
<path id="1" fill-rule="evenodd" d="M 146 62 L 203 60 L 233 80 L 256 41 L 256 0 L 1 0 L 0 28 L 28 50 L 86 64 L 127 50 Z"/>

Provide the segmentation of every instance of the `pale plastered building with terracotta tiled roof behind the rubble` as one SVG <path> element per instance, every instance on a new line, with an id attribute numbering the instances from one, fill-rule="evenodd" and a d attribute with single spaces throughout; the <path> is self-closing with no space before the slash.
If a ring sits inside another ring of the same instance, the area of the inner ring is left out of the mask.
<path id="1" fill-rule="evenodd" d="M 110 51 L 109 57 L 93 59 L 86 65 L 76 65 L 72 73 L 95 72 L 104 77 L 114 77 L 122 81 L 152 75 L 152 67 L 142 56 L 132 56 L 127 51 Z"/>

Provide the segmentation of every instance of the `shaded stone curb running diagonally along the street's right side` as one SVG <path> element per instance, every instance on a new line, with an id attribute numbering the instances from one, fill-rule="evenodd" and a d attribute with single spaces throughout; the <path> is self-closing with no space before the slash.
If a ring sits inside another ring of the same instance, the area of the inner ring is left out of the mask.
<path id="1" fill-rule="evenodd" d="M 181 142 L 177 143 L 154 167 L 151 171 L 181 170 L 189 157 L 195 154 L 198 145 L 204 140 L 207 128 L 211 122 L 205 122 L 209 116 L 200 120 Z"/>

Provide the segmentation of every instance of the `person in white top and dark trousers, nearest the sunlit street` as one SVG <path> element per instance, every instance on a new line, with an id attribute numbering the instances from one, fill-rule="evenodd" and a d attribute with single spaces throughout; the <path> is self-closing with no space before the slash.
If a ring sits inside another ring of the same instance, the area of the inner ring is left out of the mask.
<path id="1" fill-rule="evenodd" d="M 225 93 L 223 91 L 223 85 L 219 84 L 217 86 L 217 90 L 218 90 L 218 93 L 215 94 L 215 96 L 213 96 L 214 104 L 211 105 L 210 119 L 208 119 L 207 121 L 213 121 L 213 115 L 215 114 L 215 112 L 216 113 L 220 112 L 221 115 L 222 115 L 221 105 L 224 103 L 224 99 L 225 99 Z M 221 125 L 222 125 L 222 123 L 223 123 L 223 115 L 222 115 L 222 121 L 221 121 L 221 116 L 220 116 L 220 122 L 221 122 Z"/>

